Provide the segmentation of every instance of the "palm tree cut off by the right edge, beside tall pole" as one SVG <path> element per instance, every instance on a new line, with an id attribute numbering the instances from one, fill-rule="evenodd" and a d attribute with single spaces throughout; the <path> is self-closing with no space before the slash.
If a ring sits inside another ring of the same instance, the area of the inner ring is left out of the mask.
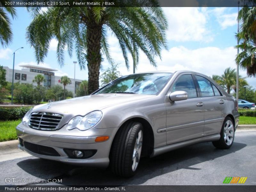
<path id="1" fill-rule="evenodd" d="M 236 63 L 247 70 L 248 76 L 256 75 L 256 7 L 247 5 L 255 4 L 255 0 L 244 0 L 244 7 L 239 11 L 237 20 L 242 23 L 236 38 L 240 42 L 236 48 L 241 52 L 236 55 Z"/>

